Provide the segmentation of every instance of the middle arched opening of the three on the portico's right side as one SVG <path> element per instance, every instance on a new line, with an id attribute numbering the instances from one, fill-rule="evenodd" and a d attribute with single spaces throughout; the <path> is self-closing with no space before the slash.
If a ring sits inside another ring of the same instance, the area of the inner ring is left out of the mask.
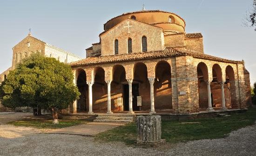
<path id="1" fill-rule="evenodd" d="M 212 82 L 211 87 L 211 97 L 212 106 L 216 108 L 222 107 L 222 91 L 220 82 L 222 82 L 222 69 L 220 65 L 214 64 L 212 67 Z"/>

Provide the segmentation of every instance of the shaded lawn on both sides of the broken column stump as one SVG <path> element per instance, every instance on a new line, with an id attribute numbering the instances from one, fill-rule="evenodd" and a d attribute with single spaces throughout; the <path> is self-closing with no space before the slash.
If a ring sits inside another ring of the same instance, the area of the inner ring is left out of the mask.
<path id="1" fill-rule="evenodd" d="M 169 143 L 190 140 L 214 139 L 227 136 L 231 131 L 252 125 L 256 121 L 256 108 L 228 117 L 162 121 L 162 138 Z M 129 123 L 95 136 L 96 140 L 120 141 L 133 144 L 136 141 L 136 123 Z"/>

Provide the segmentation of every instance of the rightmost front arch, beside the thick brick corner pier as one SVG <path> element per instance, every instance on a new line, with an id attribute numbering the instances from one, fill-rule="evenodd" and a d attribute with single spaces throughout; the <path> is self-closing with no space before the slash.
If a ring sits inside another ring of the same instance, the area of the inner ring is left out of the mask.
<path id="1" fill-rule="evenodd" d="M 160 61 L 155 66 L 154 92 L 156 110 L 173 109 L 171 66 L 166 61 Z"/>

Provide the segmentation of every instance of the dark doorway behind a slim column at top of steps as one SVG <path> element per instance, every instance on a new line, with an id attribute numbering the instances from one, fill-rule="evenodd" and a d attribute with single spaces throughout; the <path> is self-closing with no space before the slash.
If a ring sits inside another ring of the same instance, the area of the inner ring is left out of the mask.
<path id="1" fill-rule="evenodd" d="M 133 110 L 139 110 L 137 106 L 137 96 L 139 96 L 139 84 L 132 84 Z M 123 105 L 124 111 L 129 111 L 129 85 L 123 85 Z"/>

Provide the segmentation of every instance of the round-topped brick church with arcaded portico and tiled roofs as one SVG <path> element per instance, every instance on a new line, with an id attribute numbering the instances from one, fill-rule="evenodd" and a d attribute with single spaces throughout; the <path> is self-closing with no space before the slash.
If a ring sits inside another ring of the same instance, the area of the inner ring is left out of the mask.
<path id="1" fill-rule="evenodd" d="M 245 109 L 244 61 L 205 54 L 201 33 L 187 33 L 175 13 L 141 10 L 104 24 L 87 58 L 70 63 L 80 99 L 67 113 L 190 114 Z"/>

